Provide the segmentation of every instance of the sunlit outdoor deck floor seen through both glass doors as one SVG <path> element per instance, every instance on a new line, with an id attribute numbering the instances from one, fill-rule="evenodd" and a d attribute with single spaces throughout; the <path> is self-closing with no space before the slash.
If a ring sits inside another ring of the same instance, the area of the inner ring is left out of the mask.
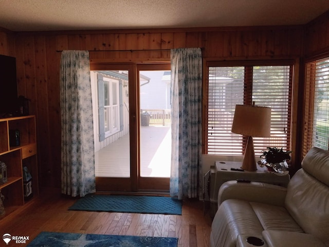
<path id="1" fill-rule="evenodd" d="M 141 176 L 170 177 L 171 128 L 142 126 Z M 95 153 L 96 177 L 129 177 L 129 135 Z"/>

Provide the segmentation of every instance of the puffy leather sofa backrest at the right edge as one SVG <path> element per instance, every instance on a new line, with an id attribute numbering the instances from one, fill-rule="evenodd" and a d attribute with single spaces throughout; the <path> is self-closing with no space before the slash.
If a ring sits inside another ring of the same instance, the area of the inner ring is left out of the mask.
<path id="1" fill-rule="evenodd" d="M 329 245 L 329 152 L 312 148 L 291 178 L 286 209 L 305 233 Z"/>

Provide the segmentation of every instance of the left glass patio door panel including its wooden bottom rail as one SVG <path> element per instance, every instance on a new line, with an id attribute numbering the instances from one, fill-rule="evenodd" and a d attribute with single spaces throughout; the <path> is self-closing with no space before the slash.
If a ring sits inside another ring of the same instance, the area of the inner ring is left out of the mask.
<path id="1" fill-rule="evenodd" d="M 93 70 L 97 190 L 131 190 L 129 70 Z"/>

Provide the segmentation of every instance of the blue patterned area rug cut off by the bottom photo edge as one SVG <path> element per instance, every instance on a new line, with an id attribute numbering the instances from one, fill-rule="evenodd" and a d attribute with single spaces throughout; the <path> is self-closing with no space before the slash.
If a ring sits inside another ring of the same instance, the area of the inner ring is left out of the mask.
<path id="1" fill-rule="evenodd" d="M 42 232 L 28 247 L 177 247 L 177 238 Z"/>

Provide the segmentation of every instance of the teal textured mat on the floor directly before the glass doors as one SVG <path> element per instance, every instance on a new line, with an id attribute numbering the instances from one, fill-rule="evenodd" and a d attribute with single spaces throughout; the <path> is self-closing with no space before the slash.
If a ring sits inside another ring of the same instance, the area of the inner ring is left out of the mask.
<path id="1" fill-rule="evenodd" d="M 171 197 L 90 194 L 69 210 L 181 215 L 181 201 Z"/>

